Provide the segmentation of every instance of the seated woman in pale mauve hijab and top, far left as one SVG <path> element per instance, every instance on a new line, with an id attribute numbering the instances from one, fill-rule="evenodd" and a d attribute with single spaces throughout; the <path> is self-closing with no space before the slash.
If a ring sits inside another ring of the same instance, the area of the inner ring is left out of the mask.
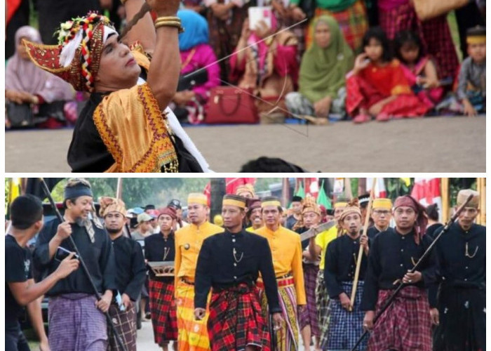
<path id="1" fill-rule="evenodd" d="M 15 32 L 15 54 L 8 60 L 5 70 L 6 100 L 18 105 L 30 105 L 33 114 L 39 117 L 36 121 L 53 119 L 47 123 L 48 126 L 64 124 L 65 101 L 74 100 L 75 91 L 67 82 L 36 67 L 29 60 L 22 39 L 41 43 L 41 35 L 33 27 L 23 26 Z M 22 117 L 10 115 L 6 121 L 8 123 L 19 118 Z"/>

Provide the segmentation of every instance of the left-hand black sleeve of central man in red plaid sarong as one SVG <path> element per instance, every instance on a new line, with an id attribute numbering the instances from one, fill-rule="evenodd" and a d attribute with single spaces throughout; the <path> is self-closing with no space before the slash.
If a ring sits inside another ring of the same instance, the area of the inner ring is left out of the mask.
<path id="1" fill-rule="evenodd" d="M 206 300 L 211 288 L 211 260 L 213 255 L 211 238 L 205 239 L 199 250 L 196 275 L 194 277 L 194 308 L 206 308 Z"/>

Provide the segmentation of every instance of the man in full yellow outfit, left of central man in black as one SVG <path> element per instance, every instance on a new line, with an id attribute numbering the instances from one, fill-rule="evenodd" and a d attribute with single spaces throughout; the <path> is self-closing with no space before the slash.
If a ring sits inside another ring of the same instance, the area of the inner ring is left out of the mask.
<path id="1" fill-rule="evenodd" d="M 189 194 L 187 198 L 189 225 L 175 232 L 175 299 L 177 305 L 177 346 L 180 351 L 210 350 L 206 331 L 208 313 L 194 319 L 194 275 L 203 240 L 223 232 L 208 222 L 208 199 L 205 194 Z"/>

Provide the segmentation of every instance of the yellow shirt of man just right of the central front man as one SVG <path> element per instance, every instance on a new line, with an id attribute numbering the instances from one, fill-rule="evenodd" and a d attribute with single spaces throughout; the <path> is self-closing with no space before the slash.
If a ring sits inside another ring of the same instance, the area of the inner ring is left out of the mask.
<path id="1" fill-rule="evenodd" d="M 304 271 L 302 268 L 302 244 L 300 235 L 285 227 L 278 227 L 276 232 L 266 226 L 255 230 L 256 234 L 268 240 L 276 278 L 292 273 L 297 293 L 297 305 L 306 305 Z"/>

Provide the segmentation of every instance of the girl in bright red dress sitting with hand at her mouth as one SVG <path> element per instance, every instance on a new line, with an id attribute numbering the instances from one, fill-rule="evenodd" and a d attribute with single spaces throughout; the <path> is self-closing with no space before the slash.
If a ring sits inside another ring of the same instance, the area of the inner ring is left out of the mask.
<path id="1" fill-rule="evenodd" d="M 347 75 L 347 112 L 354 123 L 420 117 L 428 107 L 411 91 L 401 63 L 392 58 L 389 39 L 380 27 L 363 37 L 364 53 L 358 55 Z"/>

